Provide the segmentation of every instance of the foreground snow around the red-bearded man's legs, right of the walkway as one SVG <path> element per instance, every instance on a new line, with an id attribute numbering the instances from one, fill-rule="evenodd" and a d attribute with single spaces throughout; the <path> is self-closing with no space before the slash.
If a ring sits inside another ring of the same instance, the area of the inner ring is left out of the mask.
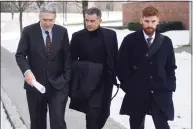
<path id="1" fill-rule="evenodd" d="M 176 56 L 176 92 L 173 94 L 175 118 L 169 121 L 171 129 L 191 129 L 191 54 L 182 52 L 175 54 Z M 115 94 L 117 88 L 114 88 Z M 111 104 L 111 118 L 129 127 L 129 117 L 119 115 L 120 107 L 125 93 L 120 90 Z M 150 116 L 146 116 L 146 129 L 155 129 L 153 120 Z M 129 128 L 128 128 L 129 129 Z"/>

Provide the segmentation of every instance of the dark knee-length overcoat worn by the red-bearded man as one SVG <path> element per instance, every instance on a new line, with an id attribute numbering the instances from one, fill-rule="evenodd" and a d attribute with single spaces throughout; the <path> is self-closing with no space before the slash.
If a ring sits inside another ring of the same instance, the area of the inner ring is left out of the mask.
<path id="1" fill-rule="evenodd" d="M 117 59 L 117 76 L 125 91 L 121 114 L 146 112 L 149 108 L 150 91 L 160 108 L 168 116 L 174 117 L 172 92 L 176 89 L 174 49 L 169 37 L 164 36 L 157 52 L 145 57 L 160 40 L 156 31 L 153 44 L 148 48 L 142 30 L 127 35 L 120 47 Z"/>

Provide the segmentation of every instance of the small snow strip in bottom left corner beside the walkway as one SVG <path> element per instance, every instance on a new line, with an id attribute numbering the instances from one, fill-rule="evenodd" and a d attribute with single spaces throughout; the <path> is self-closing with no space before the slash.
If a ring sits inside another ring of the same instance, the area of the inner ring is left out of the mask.
<path id="1" fill-rule="evenodd" d="M 7 119 L 7 115 L 5 113 L 5 109 L 3 108 L 2 102 L 1 102 L 1 129 L 13 129 L 9 120 Z"/>

